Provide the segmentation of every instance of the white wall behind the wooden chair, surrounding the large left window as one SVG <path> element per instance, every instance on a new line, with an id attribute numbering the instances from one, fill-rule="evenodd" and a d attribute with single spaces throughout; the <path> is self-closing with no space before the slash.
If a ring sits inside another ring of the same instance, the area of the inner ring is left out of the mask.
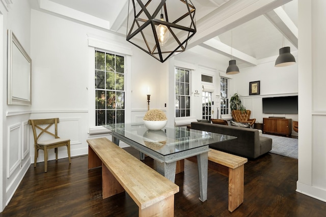
<path id="1" fill-rule="evenodd" d="M 147 111 L 148 87 L 151 95 L 150 108 L 165 109 L 165 68 L 150 55 L 135 49 L 124 36 L 36 10 L 32 10 L 31 20 L 31 118 L 59 117 L 59 127 L 62 129 L 60 136 L 71 139 L 71 156 L 88 153 L 86 140 L 89 128 L 95 124 L 94 67 L 89 59 L 93 58 L 95 45 L 90 47 L 89 40 L 98 40 L 100 49 L 117 52 L 119 47 L 132 55 L 131 66 L 126 66 L 126 78 L 128 77 L 131 85 L 126 88 L 125 93 L 126 98 L 131 101 L 126 104 L 126 122 L 143 118 Z M 127 59 L 129 58 L 125 59 L 126 64 L 129 64 Z M 33 152 L 31 157 L 34 158 Z M 67 157 L 65 148 L 59 150 L 59 157 Z M 55 159 L 55 154 L 50 151 L 49 160 L 52 159 Z M 43 161 L 42 154 L 38 161 Z"/>

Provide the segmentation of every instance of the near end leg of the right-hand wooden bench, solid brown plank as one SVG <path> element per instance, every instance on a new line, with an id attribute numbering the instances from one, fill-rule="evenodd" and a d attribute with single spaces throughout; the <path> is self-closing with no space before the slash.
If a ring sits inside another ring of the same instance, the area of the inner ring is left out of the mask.
<path id="1" fill-rule="evenodd" d="M 243 202 L 244 165 L 229 168 L 229 211 L 232 212 Z"/>

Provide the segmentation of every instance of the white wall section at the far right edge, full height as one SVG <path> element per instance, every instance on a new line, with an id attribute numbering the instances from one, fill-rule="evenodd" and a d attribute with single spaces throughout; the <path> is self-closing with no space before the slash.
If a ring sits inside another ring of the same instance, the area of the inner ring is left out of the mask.
<path id="1" fill-rule="evenodd" d="M 299 124 L 297 191 L 326 202 L 324 51 L 326 2 L 298 1 Z"/>

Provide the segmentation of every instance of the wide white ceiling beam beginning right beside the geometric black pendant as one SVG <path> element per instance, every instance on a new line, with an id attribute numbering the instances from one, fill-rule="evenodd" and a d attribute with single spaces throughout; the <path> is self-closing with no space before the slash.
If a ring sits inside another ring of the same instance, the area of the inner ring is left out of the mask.
<path id="1" fill-rule="evenodd" d="M 274 10 L 292 0 L 230 0 L 196 22 L 197 33 L 188 49 Z"/>

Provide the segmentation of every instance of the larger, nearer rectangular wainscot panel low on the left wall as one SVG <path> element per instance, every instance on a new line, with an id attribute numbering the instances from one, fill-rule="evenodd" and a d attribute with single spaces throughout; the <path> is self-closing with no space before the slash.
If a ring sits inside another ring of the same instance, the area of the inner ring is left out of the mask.
<path id="1" fill-rule="evenodd" d="M 21 161 L 21 123 L 8 127 L 7 145 L 7 178 L 9 178 Z"/>

